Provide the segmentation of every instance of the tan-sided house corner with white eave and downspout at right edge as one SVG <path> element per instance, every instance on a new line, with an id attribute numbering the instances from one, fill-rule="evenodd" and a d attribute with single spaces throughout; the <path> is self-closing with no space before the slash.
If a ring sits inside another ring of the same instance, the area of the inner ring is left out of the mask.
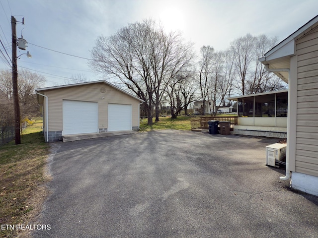
<path id="1" fill-rule="evenodd" d="M 288 83 L 286 176 L 318 195 L 318 16 L 259 59 Z"/>

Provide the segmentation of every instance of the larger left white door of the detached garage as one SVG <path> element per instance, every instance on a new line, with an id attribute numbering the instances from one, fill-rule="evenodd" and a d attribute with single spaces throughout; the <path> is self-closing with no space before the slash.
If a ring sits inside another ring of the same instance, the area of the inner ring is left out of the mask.
<path id="1" fill-rule="evenodd" d="M 96 133 L 97 103 L 63 100 L 63 135 Z"/>

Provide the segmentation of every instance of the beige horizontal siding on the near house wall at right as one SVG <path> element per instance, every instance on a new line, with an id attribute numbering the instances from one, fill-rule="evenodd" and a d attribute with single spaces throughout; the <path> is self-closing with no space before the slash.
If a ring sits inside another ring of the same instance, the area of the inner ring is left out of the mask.
<path id="1" fill-rule="evenodd" d="M 318 176 L 318 29 L 296 42 L 297 127 L 295 171 Z"/>

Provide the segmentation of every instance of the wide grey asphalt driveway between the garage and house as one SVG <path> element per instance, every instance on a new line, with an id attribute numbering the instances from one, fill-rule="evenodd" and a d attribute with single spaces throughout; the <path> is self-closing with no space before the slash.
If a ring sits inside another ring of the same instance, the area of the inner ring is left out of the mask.
<path id="1" fill-rule="evenodd" d="M 36 238 L 317 238 L 318 198 L 265 166 L 278 139 L 162 130 L 55 143 Z"/>

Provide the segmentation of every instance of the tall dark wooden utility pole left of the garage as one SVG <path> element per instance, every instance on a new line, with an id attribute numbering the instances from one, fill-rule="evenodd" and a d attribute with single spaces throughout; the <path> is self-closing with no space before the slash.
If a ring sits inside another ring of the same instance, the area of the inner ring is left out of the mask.
<path id="1" fill-rule="evenodd" d="M 18 95 L 18 69 L 16 63 L 16 19 L 11 16 L 12 30 L 12 88 L 13 88 L 13 106 L 14 106 L 14 130 L 15 144 L 21 144 L 20 136 L 20 106 Z"/>

